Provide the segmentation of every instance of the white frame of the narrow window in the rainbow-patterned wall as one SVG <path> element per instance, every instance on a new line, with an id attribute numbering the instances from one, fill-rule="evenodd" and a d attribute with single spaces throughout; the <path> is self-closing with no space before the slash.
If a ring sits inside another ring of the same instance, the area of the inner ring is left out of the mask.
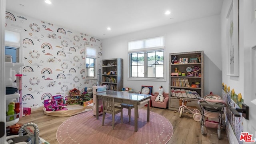
<path id="1" fill-rule="evenodd" d="M 86 50 L 87 50 L 87 48 L 92 48 L 92 49 L 94 49 L 95 51 L 96 51 L 96 53 L 97 53 L 97 48 L 94 48 L 93 46 L 85 46 L 85 58 L 84 58 L 84 61 L 85 61 L 85 76 L 84 76 L 84 78 L 85 78 L 85 80 L 97 80 L 97 65 L 96 65 L 96 63 L 97 63 L 97 54 L 95 53 L 95 54 L 87 54 L 87 52 L 86 52 Z M 93 58 L 94 59 L 94 77 L 87 77 L 86 75 L 87 75 L 87 70 L 86 70 L 86 59 L 87 58 Z"/>

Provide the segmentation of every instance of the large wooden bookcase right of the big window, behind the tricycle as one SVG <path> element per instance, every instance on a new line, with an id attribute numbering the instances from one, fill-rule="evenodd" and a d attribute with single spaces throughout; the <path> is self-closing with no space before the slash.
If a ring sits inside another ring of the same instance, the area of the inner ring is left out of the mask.
<path id="1" fill-rule="evenodd" d="M 169 54 L 169 74 L 169 110 L 179 110 L 178 98 L 191 100 L 188 107 L 200 109 L 197 98 L 204 95 L 204 51 Z"/>

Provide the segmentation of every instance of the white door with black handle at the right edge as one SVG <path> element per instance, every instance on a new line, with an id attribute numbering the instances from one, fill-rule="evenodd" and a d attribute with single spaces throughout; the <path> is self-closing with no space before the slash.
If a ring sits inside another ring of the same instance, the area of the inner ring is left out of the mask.
<path id="1" fill-rule="evenodd" d="M 244 132 L 256 140 L 256 0 L 244 0 L 244 103 L 249 106 L 249 120 Z"/>

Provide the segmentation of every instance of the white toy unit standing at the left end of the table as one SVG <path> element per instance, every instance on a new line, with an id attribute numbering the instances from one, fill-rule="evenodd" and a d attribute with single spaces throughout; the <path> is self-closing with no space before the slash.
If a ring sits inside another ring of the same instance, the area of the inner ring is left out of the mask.
<path id="1" fill-rule="evenodd" d="M 96 94 L 97 93 L 101 93 L 101 92 L 106 92 L 107 90 L 107 86 L 103 85 L 103 86 L 92 86 L 92 92 L 93 92 L 93 114 L 94 116 L 96 116 Z M 102 100 L 99 100 L 99 115 L 102 114 L 103 109 L 102 109 Z"/>

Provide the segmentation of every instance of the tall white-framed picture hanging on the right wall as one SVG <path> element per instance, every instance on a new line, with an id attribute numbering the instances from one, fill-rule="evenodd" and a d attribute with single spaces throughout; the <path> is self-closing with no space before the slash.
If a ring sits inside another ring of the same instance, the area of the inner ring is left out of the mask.
<path id="1" fill-rule="evenodd" d="M 226 16 L 227 75 L 239 76 L 238 0 L 232 0 Z"/>

